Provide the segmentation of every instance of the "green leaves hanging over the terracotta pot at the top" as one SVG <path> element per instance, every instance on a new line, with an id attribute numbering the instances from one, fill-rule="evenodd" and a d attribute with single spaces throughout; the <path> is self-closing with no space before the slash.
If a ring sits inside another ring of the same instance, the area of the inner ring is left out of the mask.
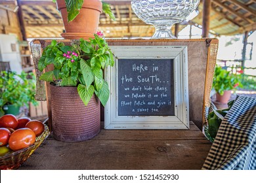
<path id="1" fill-rule="evenodd" d="M 53 0 L 56 3 L 56 0 Z M 71 22 L 75 19 L 75 17 L 79 14 L 81 7 L 83 5 L 84 0 L 65 0 L 67 11 L 68 11 L 68 22 Z M 102 11 L 105 14 L 108 14 L 112 20 L 116 20 L 112 10 L 110 9 L 110 5 L 102 1 Z"/>

